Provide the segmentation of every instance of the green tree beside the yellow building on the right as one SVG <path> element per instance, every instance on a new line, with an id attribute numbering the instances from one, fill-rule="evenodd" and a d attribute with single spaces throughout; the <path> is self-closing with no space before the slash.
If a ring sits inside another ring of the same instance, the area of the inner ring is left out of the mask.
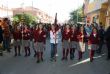
<path id="1" fill-rule="evenodd" d="M 77 15 L 78 15 L 78 22 L 82 22 L 83 17 L 83 7 L 80 7 L 70 13 L 69 22 L 77 23 Z"/>

